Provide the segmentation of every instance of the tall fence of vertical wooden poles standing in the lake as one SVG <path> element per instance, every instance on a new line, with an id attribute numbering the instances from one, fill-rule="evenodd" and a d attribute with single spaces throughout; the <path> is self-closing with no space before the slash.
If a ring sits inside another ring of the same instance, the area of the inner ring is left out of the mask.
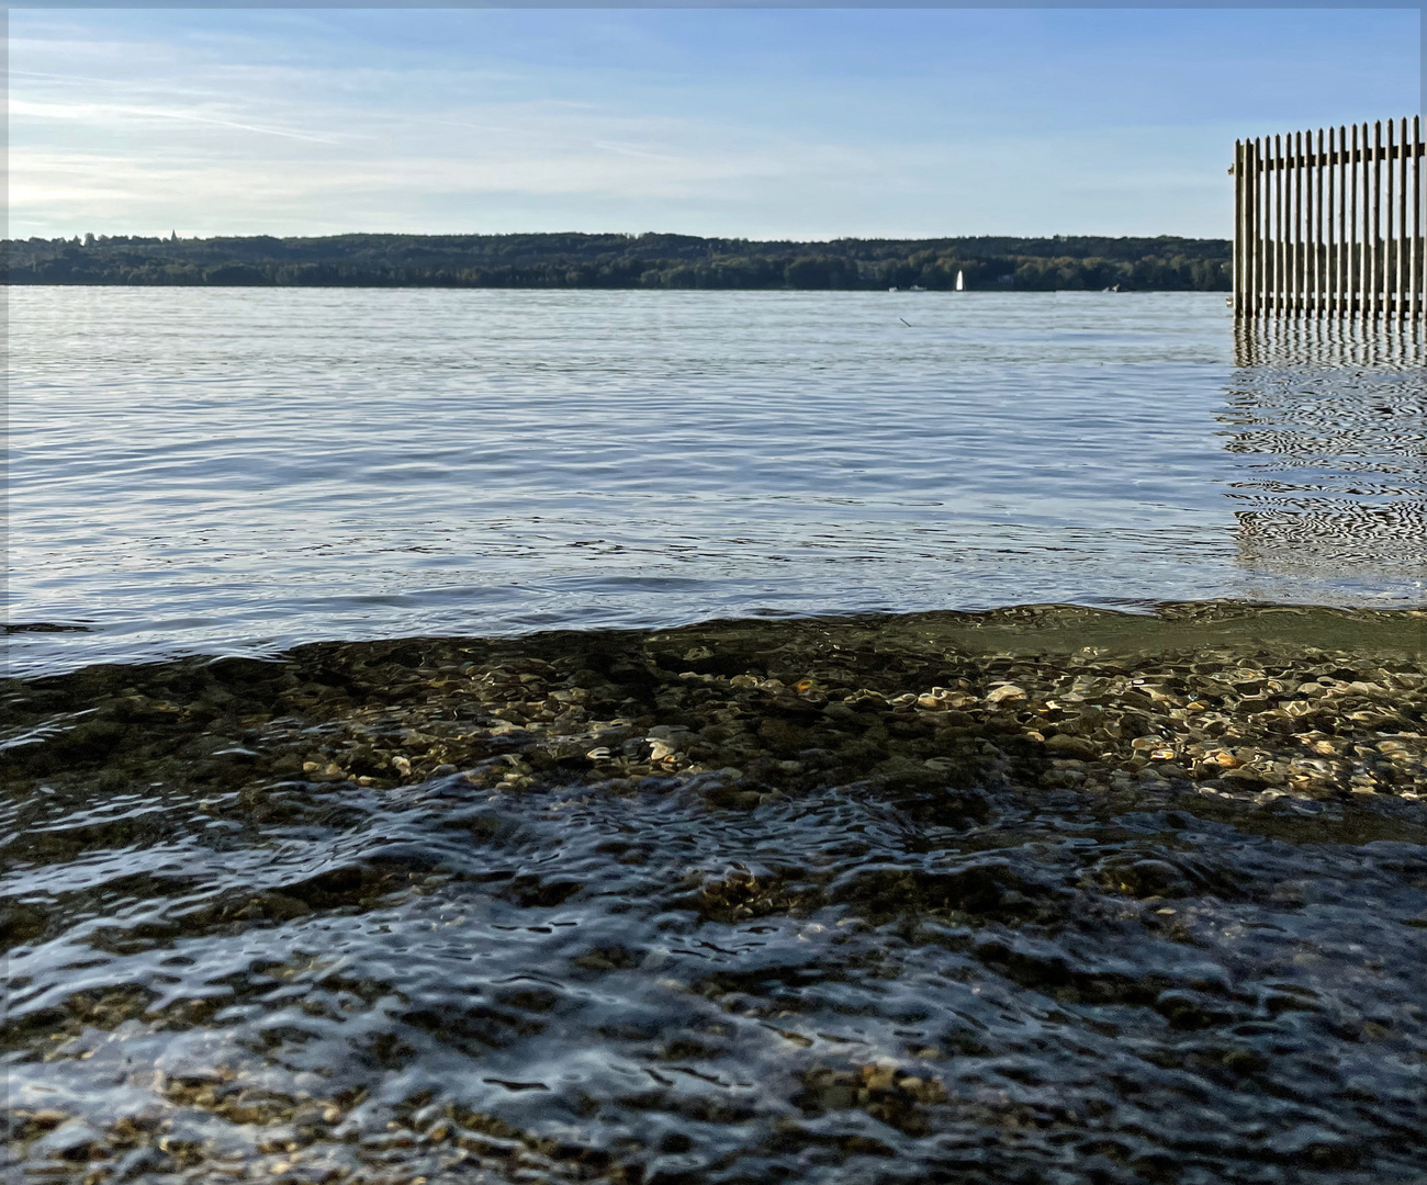
<path id="1" fill-rule="evenodd" d="M 1421 117 L 1234 144 L 1234 315 L 1427 315 Z"/>

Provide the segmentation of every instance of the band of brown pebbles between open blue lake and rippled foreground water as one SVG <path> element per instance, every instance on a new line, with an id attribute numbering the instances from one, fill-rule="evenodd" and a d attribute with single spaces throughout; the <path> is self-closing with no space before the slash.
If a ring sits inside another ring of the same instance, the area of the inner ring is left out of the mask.
<path id="1" fill-rule="evenodd" d="M 11 682 L 4 761 L 243 803 L 716 773 L 721 809 L 863 779 L 1341 809 L 1427 793 L 1424 646 L 1421 612 L 1233 605 L 318 643 Z"/>

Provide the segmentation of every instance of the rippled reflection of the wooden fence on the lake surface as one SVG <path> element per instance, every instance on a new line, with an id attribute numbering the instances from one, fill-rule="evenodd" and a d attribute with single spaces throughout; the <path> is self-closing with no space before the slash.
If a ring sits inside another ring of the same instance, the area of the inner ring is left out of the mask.
<path id="1" fill-rule="evenodd" d="M 1421 327 L 1241 327 L 1220 419 L 1239 559 L 1294 575 L 1427 576 Z"/>

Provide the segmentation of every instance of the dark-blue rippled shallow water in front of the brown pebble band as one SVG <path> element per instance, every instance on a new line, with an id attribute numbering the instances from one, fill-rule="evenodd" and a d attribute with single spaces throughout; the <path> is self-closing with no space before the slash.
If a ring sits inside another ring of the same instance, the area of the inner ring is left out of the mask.
<path id="1" fill-rule="evenodd" d="M 59 1031 L 11 1101 L 205 1172 L 291 1141 L 300 1179 L 434 1179 L 462 1135 L 529 1181 L 1421 1179 L 1418 844 L 989 803 L 56 801 L 30 843 L 88 851 L 27 877 L 70 925 L 11 958 L 17 1022 Z"/>

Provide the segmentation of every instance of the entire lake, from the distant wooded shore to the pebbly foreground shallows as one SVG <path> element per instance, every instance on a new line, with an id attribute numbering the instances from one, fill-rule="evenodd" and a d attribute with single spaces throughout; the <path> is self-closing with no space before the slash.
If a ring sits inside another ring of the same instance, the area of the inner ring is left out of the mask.
<path id="1" fill-rule="evenodd" d="M 9 299 L 10 1176 L 1421 1179 L 1420 334 Z"/>

